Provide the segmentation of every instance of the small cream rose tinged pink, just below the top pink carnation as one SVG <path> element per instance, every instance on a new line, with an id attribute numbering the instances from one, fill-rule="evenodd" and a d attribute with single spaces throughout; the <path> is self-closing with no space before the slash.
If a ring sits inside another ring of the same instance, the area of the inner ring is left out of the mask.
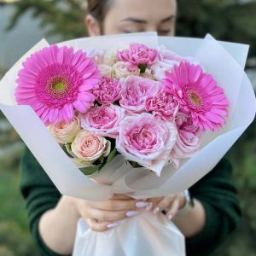
<path id="1" fill-rule="evenodd" d="M 116 78 L 125 79 L 128 76 L 138 76 L 140 70 L 130 62 L 118 61 L 113 65 L 113 73 Z"/>

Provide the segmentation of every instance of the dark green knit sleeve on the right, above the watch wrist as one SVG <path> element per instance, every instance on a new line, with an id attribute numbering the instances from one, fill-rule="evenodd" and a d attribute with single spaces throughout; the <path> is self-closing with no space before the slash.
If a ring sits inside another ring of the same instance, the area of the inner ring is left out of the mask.
<path id="1" fill-rule="evenodd" d="M 241 208 L 231 173 L 229 160 L 223 159 L 189 189 L 191 196 L 201 201 L 207 219 L 200 234 L 186 239 L 188 256 L 212 253 L 239 224 Z"/>

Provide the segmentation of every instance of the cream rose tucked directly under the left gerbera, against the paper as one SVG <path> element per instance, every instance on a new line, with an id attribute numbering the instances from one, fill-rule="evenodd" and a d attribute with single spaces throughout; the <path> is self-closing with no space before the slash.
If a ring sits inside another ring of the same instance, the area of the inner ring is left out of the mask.
<path id="1" fill-rule="evenodd" d="M 80 130 L 81 125 L 77 117 L 71 123 L 62 121 L 56 125 L 49 126 L 50 133 L 55 137 L 57 143 L 60 144 L 72 143 L 74 137 L 76 137 Z"/>

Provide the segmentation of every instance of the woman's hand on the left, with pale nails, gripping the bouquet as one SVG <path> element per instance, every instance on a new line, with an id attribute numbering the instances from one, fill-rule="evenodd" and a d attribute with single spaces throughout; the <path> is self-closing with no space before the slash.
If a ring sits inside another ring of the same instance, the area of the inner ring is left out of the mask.
<path id="1" fill-rule="evenodd" d="M 118 225 L 117 221 L 143 212 L 148 201 L 137 201 L 125 195 L 114 195 L 107 201 L 84 201 L 73 199 L 79 218 L 85 218 L 91 230 L 105 231 Z"/>

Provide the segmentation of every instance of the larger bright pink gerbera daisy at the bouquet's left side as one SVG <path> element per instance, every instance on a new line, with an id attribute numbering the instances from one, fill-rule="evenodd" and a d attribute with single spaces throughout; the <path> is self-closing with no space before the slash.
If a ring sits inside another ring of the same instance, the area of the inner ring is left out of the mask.
<path id="1" fill-rule="evenodd" d="M 31 55 L 18 73 L 15 91 L 18 104 L 31 106 L 45 124 L 85 113 L 95 100 L 99 71 L 81 50 L 66 46 L 46 47 Z"/>

